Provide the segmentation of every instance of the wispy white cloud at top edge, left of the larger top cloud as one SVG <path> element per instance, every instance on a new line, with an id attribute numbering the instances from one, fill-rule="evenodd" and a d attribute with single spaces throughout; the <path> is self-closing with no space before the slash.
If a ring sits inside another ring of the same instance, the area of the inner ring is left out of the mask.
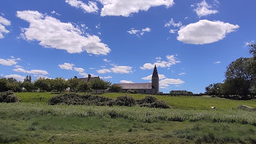
<path id="1" fill-rule="evenodd" d="M 84 10 L 85 13 L 97 13 L 97 11 L 99 10 L 96 2 L 93 1 L 89 1 L 88 4 L 85 4 L 84 2 L 78 0 L 66 0 L 65 2 L 72 7 L 81 8 L 82 10 Z"/>

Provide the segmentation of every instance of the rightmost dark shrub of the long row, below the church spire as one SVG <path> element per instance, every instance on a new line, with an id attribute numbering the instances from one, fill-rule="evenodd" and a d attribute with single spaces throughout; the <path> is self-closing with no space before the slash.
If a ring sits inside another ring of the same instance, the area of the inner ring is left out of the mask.
<path id="1" fill-rule="evenodd" d="M 156 107 L 156 108 L 163 108 L 163 109 L 170 108 L 165 101 L 158 100 L 157 98 L 152 96 L 147 96 L 145 98 L 142 98 L 141 100 L 137 100 L 136 104 L 138 104 L 141 107 Z"/>

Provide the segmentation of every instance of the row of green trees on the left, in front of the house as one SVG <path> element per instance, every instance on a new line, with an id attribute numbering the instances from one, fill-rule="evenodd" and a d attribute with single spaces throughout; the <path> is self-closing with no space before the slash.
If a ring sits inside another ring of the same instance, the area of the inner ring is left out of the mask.
<path id="1" fill-rule="evenodd" d="M 86 82 L 84 80 L 64 79 L 62 77 L 56 77 L 55 79 L 46 79 L 44 77 L 39 77 L 35 79 L 34 82 L 31 81 L 31 76 L 26 76 L 23 82 L 17 81 L 14 78 L 0 78 L 0 92 L 13 91 L 13 92 L 32 92 L 32 91 L 56 91 L 62 92 L 67 88 L 70 88 L 70 92 L 96 92 L 99 89 L 112 89 L 114 92 L 118 92 L 121 86 L 116 84 L 111 85 L 111 82 L 96 79 L 91 82 Z"/>

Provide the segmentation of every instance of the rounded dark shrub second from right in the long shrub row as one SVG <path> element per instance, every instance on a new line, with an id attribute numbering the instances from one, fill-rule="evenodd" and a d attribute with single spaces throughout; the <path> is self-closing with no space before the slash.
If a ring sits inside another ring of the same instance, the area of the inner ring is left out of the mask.
<path id="1" fill-rule="evenodd" d="M 119 96 L 115 99 L 115 105 L 132 107 L 135 106 L 135 99 L 127 95 Z"/>

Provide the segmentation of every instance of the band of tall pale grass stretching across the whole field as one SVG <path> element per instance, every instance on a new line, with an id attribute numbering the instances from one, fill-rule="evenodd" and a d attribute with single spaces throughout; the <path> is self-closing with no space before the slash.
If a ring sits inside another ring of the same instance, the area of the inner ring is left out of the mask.
<path id="1" fill-rule="evenodd" d="M 109 106 L 49 106 L 31 103 L 1 103 L 0 115 L 15 117 L 17 115 L 50 113 L 56 116 L 104 116 L 107 118 L 127 118 L 142 122 L 163 121 L 212 121 L 236 122 L 256 125 L 256 113 L 245 110 L 181 110 L 154 109 L 147 107 L 109 107 Z"/>

